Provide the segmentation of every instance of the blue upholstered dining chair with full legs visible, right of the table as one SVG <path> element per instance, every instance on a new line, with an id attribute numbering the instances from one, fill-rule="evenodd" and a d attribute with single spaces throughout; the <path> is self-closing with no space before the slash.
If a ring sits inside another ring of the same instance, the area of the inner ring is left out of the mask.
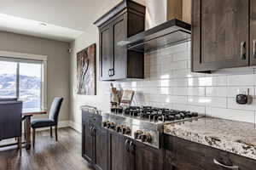
<path id="1" fill-rule="evenodd" d="M 33 119 L 32 127 L 32 144 L 35 146 L 36 129 L 41 127 L 50 128 L 50 137 L 52 138 L 52 127 L 55 127 L 55 140 L 58 141 L 58 117 L 61 110 L 63 98 L 55 98 L 49 110 L 49 118 Z"/>

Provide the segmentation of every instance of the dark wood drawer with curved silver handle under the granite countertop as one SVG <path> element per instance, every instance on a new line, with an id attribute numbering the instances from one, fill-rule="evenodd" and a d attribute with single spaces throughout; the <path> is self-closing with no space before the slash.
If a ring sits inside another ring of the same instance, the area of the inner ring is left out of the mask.
<path id="1" fill-rule="evenodd" d="M 231 169 L 222 166 L 225 165 L 229 167 L 239 167 L 239 170 L 253 170 L 256 167 L 256 161 L 247 157 L 238 156 L 224 150 L 189 142 L 170 135 L 165 136 L 165 146 L 166 164 L 177 167 L 177 169 Z M 215 162 L 213 160 L 215 160 Z M 222 165 L 218 165 L 217 161 Z"/>

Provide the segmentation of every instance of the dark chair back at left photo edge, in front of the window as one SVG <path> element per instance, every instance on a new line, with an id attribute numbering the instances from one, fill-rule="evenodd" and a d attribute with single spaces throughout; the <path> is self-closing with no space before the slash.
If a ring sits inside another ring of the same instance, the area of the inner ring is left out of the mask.
<path id="1" fill-rule="evenodd" d="M 21 136 L 21 101 L 0 101 L 0 140 Z"/>

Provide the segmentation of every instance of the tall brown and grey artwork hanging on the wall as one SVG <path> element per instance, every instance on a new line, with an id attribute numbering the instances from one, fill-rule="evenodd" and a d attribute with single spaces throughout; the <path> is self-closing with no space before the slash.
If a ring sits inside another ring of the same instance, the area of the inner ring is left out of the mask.
<path id="1" fill-rule="evenodd" d="M 77 54 L 78 94 L 96 95 L 96 43 Z"/>

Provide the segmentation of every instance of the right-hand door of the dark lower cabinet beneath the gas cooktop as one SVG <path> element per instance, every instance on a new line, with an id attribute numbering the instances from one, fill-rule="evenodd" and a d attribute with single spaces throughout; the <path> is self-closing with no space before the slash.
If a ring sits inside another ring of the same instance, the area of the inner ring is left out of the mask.
<path id="1" fill-rule="evenodd" d="M 135 153 L 134 159 L 132 159 L 131 162 L 132 161 L 134 162 L 134 170 L 164 169 L 163 150 L 157 150 L 142 143 L 135 142 Z M 131 166 L 132 165 L 133 163 L 131 163 Z"/>

